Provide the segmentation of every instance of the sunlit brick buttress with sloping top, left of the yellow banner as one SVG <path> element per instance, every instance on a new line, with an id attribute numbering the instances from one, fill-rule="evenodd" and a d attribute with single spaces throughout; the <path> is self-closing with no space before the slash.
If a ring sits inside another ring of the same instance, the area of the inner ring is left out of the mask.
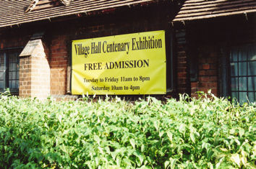
<path id="1" fill-rule="evenodd" d="M 20 54 L 20 97 L 50 96 L 50 66 L 41 40 L 30 40 Z"/>

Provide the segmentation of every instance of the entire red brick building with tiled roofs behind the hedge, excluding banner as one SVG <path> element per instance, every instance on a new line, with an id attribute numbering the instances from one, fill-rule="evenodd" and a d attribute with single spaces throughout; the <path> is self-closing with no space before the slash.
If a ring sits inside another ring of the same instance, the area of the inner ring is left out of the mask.
<path id="1" fill-rule="evenodd" d="M 255 42 L 254 1 L 225 6 L 229 2 L 221 0 L 74 0 L 69 5 L 40 0 L 26 13 L 30 3 L 0 1 L 1 91 L 10 88 L 22 97 L 72 96 L 73 40 L 164 30 L 166 92 L 161 96 L 195 96 L 211 89 L 216 96 L 239 98 L 240 92 L 247 93 L 255 101 L 255 74 L 231 76 L 230 65 L 237 65 L 232 68 L 238 71 L 240 61 L 229 60 L 236 42 Z M 246 64 L 255 64 L 255 58 Z M 255 71 L 255 66 L 249 68 Z M 230 88 L 234 78 L 246 78 L 245 91 Z M 248 86 L 251 81 L 253 87 Z"/>

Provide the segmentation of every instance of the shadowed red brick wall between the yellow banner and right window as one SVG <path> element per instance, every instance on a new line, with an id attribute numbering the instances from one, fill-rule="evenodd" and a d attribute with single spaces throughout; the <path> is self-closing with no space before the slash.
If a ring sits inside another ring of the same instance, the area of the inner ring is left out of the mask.
<path id="1" fill-rule="evenodd" d="M 197 92 L 208 93 L 211 90 L 211 93 L 219 96 L 220 49 L 212 41 L 207 40 L 207 35 L 209 35 L 207 29 L 197 32 L 197 27 L 193 29 L 185 27 L 182 25 L 176 28 L 177 93 L 188 93 L 192 97 L 197 97 Z M 197 72 L 196 78 L 190 78 L 192 76 L 190 69 Z"/>

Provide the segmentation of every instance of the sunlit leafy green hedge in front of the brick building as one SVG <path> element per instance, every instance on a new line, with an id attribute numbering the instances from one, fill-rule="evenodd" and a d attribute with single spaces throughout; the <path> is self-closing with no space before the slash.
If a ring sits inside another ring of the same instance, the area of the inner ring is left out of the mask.
<path id="1" fill-rule="evenodd" d="M 0 96 L 0 168 L 255 168 L 256 105 Z"/>

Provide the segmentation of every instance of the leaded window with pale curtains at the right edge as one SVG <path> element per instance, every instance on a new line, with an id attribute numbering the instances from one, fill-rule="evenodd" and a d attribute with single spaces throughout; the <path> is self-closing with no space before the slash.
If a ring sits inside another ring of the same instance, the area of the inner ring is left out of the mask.
<path id="1" fill-rule="evenodd" d="M 256 99 L 256 45 L 235 47 L 230 52 L 231 97 L 239 103 Z"/>

